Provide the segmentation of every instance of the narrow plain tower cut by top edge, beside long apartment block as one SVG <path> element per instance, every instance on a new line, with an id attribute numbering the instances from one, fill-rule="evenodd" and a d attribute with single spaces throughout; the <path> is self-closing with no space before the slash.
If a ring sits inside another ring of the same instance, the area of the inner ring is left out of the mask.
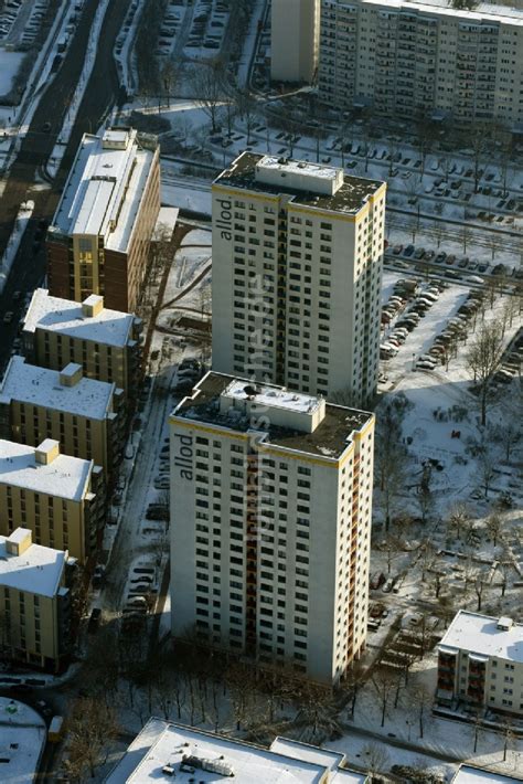
<path id="1" fill-rule="evenodd" d="M 318 66 L 320 0 L 273 0 L 270 77 L 312 82 Z"/>

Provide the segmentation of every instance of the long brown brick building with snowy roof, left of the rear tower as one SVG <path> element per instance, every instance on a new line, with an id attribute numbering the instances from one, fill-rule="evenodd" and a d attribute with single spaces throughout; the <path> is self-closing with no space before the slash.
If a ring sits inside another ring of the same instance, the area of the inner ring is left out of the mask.
<path id="1" fill-rule="evenodd" d="M 134 311 L 159 210 L 156 141 L 131 128 L 85 134 L 47 231 L 50 293 Z"/>

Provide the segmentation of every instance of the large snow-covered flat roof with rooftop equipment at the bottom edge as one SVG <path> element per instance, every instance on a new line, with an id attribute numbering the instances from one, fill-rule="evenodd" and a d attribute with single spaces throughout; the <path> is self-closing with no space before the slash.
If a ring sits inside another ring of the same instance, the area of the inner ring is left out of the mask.
<path id="1" fill-rule="evenodd" d="M 192 773 L 180 770 L 183 755 L 231 766 L 235 784 L 320 784 L 329 770 L 325 765 L 303 759 L 200 732 L 190 727 L 171 724 L 161 719 L 150 719 L 108 775 L 106 784 L 172 781 L 173 776 L 162 773 L 164 765 L 171 765 L 174 769 L 174 781 L 184 784 L 194 780 L 205 784 L 222 778 L 227 781 L 227 776 L 201 766 Z"/>

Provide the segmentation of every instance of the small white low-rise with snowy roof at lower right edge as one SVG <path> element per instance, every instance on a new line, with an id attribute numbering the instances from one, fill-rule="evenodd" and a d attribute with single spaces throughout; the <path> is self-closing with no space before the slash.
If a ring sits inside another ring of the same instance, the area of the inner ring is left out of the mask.
<path id="1" fill-rule="evenodd" d="M 523 624 L 460 610 L 438 645 L 437 699 L 523 716 Z"/>

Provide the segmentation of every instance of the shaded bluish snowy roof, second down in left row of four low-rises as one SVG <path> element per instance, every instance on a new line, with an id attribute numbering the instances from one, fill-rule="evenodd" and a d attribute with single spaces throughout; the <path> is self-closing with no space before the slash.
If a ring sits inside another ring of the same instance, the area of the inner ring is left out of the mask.
<path id="1" fill-rule="evenodd" d="M 12 400 L 103 420 L 111 410 L 115 384 L 82 378 L 73 386 L 60 383 L 60 372 L 11 357 L 0 383 L 0 403 Z"/>

